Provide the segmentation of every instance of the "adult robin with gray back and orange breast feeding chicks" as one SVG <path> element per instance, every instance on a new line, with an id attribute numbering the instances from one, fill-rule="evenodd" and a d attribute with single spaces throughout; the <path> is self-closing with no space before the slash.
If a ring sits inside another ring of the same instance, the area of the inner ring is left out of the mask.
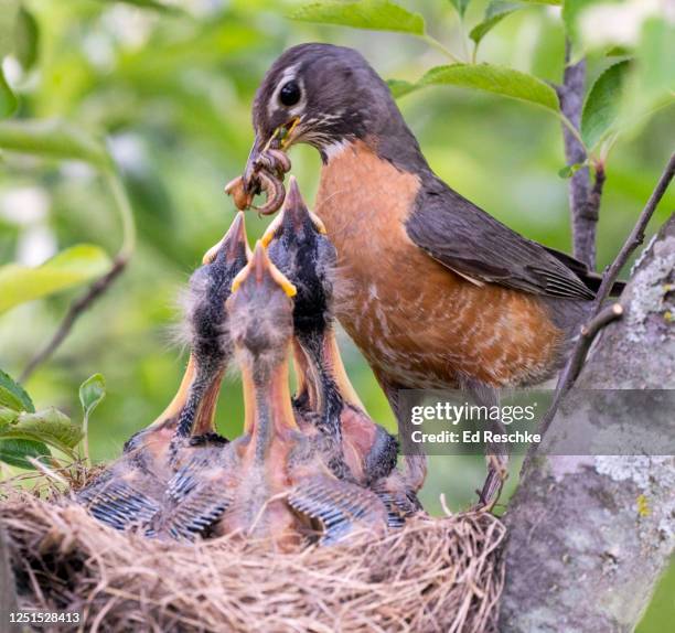
<path id="1" fill-rule="evenodd" d="M 249 195 L 261 155 L 269 162 L 270 150 L 301 142 L 319 150 L 314 211 L 338 250 L 336 315 L 403 432 L 400 389 L 461 388 L 492 404 L 497 388 L 538 384 L 560 367 L 598 277 L 442 182 L 360 53 L 286 51 L 257 90 L 253 122 Z M 421 483 L 425 460 L 407 465 Z M 496 491 L 494 474 L 483 502 Z"/>

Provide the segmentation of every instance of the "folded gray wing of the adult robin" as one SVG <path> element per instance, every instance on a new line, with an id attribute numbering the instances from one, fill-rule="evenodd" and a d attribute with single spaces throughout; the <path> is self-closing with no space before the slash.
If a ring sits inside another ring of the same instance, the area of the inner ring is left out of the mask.
<path id="1" fill-rule="evenodd" d="M 499 283 L 548 297 L 593 298 L 560 258 L 437 179 L 425 183 L 405 226 L 419 248 L 475 283 Z"/>

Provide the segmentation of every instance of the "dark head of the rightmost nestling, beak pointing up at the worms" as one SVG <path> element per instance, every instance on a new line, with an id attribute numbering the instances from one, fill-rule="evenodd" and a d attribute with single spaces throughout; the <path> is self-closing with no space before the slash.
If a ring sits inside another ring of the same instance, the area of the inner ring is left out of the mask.
<path id="1" fill-rule="evenodd" d="M 270 259 L 293 283 L 296 330 L 315 330 L 331 321 L 335 248 L 321 221 L 307 207 L 293 176 L 281 213 L 262 236 Z"/>

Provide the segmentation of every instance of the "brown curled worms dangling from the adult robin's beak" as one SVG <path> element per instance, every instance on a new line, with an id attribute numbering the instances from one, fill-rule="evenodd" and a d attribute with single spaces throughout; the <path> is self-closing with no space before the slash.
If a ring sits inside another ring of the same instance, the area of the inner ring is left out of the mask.
<path id="1" fill-rule="evenodd" d="M 281 208 L 286 199 L 283 176 L 291 169 L 288 155 L 281 150 L 266 149 L 256 158 L 253 172 L 246 181 L 238 176 L 227 183 L 225 193 L 232 195 L 239 211 L 253 208 L 262 215 L 270 215 Z M 261 206 L 253 204 L 257 193 L 265 193 L 266 201 Z"/>

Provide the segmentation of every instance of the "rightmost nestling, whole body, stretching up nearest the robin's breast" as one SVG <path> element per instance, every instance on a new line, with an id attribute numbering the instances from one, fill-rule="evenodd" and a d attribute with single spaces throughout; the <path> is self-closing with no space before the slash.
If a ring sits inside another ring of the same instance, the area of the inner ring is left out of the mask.
<path id="1" fill-rule="evenodd" d="M 420 508 L 416 490 L 396 470 L 398 443 L 365 412 L 342 364 L 333 329 L 332 276 L 336 254 L 321 221 L 291 176 L 282 213 L 266 232 L 272 261 L 297 288 L 294 358 L 300 377 L 296 407 L 329 438 L 329 465 L 342 479 L 371 486 L 389 509 L 389 525 Z M 344 465 L 347 472 L 341 472 Z"/>

